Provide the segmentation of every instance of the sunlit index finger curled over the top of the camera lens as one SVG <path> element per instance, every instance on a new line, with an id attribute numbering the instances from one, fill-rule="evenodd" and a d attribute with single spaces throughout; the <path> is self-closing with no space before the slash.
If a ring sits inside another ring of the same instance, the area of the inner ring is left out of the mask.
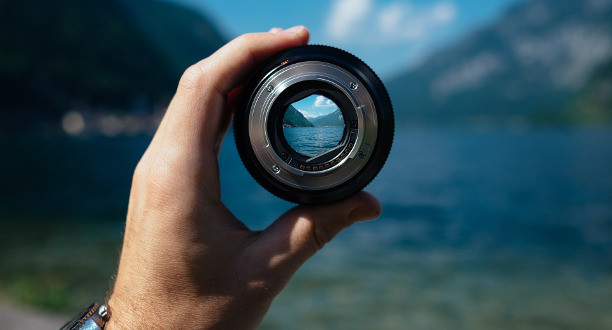
<path id="1" fill-rule="evenodd" d="M 308 30 L 301 26 L 245 34 L 187 69 L 164 118 L 172 135 L 182 138 L 181 143 L 214 151 L 227 117 L 223 114 L 227 94 L 268 57 L 306 44 L 308 37 Z"/>

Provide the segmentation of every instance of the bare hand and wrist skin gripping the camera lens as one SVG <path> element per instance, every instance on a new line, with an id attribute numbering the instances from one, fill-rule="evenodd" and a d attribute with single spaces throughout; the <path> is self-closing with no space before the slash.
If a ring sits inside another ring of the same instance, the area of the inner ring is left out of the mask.
<path id="1" fill-rule="evenodd" d="M 342 229 L 380 215 L 360 192 L 297 206 L 251 231 L 220 200 L 217 156 L 248 75 L 308 42 L 304 27 L 246 34 L 183 74 L 134 172 L 107 329 L 252 329 L 295 271 Z"/>

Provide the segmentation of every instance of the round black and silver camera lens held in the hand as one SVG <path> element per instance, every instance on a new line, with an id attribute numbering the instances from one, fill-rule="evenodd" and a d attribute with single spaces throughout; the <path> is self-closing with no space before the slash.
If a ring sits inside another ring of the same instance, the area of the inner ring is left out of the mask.
<path id="1" fill-rule="evenodd" d="M 328 46 L 272 56 L 242 89 L 236 146 L 253 178 L 276 196 L 323 204 L 363 189 L 393 142 L 385 87 L 357 57 Z"/>

